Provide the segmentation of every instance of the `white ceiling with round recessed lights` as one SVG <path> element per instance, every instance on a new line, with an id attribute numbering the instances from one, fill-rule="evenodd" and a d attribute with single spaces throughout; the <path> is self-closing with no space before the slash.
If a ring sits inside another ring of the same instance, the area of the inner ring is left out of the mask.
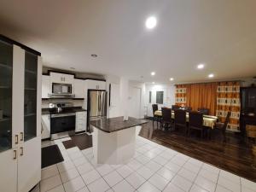
<path id="1" fill-rule="evenodd" d="M 2 0 L 0 32 L 49 67 L 146 82 L 236 79 L 256 74 L 255 8 L 255 0 Z M 151 31 L 149 15 L 158 19 Z"/>

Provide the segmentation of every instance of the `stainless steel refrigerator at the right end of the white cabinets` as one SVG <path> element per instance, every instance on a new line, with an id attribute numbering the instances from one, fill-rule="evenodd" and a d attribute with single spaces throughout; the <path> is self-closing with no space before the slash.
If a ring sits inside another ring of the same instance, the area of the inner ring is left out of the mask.
<path id="1" fill-rule="evenodd" d="M 105 90 L 88 90 L 88 122 L 101 118 L 107 118 L 108 92 Z M 90 123 L 87 124 L 90 131 Z"/>

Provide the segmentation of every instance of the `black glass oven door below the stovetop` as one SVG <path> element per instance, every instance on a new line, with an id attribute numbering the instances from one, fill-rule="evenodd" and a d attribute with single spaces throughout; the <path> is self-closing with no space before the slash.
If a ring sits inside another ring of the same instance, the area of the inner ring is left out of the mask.
<path id="1" fill-rule="evenodd" d="M 74 131 L 76 127 L 75 113 L 51 114 L 50 134 Z"/>

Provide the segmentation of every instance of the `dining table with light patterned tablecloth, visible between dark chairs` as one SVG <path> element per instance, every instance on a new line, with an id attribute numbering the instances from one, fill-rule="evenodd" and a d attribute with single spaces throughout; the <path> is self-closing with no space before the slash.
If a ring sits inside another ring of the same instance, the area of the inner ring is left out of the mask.
<path id="1" fill-rule="evenodd" d="M 161 110 L 157 110 L 154 112 L 154 115 L 161 117 L 162 116 L 162 111 Z M 172 111 L 172 119 L 174 119 L 174 111 Z M 189 112 L 186 112 L 186 120 L 187 122 L 189 122 Z M 210 127 L 212 129 L 214 129 L 216 122 L 218 121 L 218 117 L 217 116 L 213 116 L 213 115 L 207 115 L 204 114 L 203 115 L 203 125 Z"/>

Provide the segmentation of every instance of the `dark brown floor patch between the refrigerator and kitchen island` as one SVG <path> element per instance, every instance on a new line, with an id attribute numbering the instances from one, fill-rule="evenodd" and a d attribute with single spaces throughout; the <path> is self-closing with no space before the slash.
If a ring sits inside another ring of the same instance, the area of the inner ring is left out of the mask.
<path id="1" fill-rule="evenodd" d="M 80 150 L 84 150 L 85 148 L 92 147 L 92 136 L 89 136 L 86 133 L 81 135 L 75 135 L 71 137 L 71 140 L 62 143 L 65 148 L 73 148 L 78 146 Z"/>

